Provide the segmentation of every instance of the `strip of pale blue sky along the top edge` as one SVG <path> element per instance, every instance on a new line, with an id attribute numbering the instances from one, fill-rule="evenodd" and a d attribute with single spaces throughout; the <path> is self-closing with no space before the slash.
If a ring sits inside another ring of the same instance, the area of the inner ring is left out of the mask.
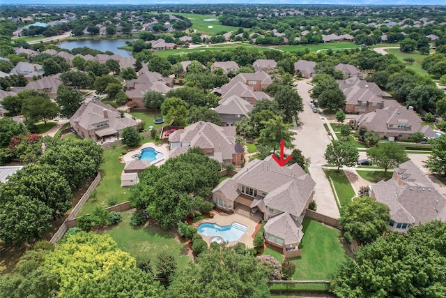
<path id="1" fill-rule="evenodd" d="M 75 2 L 75 3 L 73 3 Z M 374 6 L 406 6 L 406 5 L 445 5 L 445 0 L 133 0 L 131 5 L 144 4 L 330 4 L 330 5 L 374 5 Z M 125 0 L 0 0 L 0 4 L 20 5 L 129 5 Z"/>

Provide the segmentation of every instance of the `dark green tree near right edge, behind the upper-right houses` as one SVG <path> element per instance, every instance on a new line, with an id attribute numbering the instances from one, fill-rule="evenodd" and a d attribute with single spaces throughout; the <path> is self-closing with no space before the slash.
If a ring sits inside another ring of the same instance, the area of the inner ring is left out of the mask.
<path id="1" fill-rule="evenodd" d="M 445 96 L 445 92 L 436 86 L 419 85 L 412 89 L 406 99 L 406 107 L 410 105 L 415 110 L 435 110 L 438 100 Z"/>

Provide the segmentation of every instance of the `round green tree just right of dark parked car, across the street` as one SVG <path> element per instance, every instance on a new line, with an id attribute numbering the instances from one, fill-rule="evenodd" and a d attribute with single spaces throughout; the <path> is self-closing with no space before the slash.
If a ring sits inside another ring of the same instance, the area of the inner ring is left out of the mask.
<path id="1" fill-rule="evenodd" d="M 384 172 L 387 172 L 389 167 L 398 167 L 401 163 L 409 160 L 404 147 L 399 146 L 395 142 L 385 142 L 377 144 L 367 150 L 367 158 L 371 160 L 374 165 L 384 167 Z"/>

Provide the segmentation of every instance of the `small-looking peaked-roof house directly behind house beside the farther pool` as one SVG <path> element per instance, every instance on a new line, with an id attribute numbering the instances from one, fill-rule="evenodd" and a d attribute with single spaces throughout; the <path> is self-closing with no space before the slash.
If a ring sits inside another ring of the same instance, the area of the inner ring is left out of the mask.
<path id="1" fill-rule="evenodd" d="M 215 112 L 222 119 L 222 126 L 233 126 L 234 123 L 248 117 L 248 113 L 252 110 L 252 104 L 247 100 L 243 100 L 240 96 L 229 96 L 218 102 Z"/>

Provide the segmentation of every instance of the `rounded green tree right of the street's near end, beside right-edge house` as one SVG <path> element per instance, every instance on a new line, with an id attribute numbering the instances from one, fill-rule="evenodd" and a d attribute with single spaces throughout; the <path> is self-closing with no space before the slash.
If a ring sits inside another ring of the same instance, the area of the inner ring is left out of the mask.
<path id="1" fill-rule="evenodd" d="M 354 198 L 342 208 L 339 223 L 360 244 L 369 244 L 387 231 L 390 209 L 374 198 Z"/>

